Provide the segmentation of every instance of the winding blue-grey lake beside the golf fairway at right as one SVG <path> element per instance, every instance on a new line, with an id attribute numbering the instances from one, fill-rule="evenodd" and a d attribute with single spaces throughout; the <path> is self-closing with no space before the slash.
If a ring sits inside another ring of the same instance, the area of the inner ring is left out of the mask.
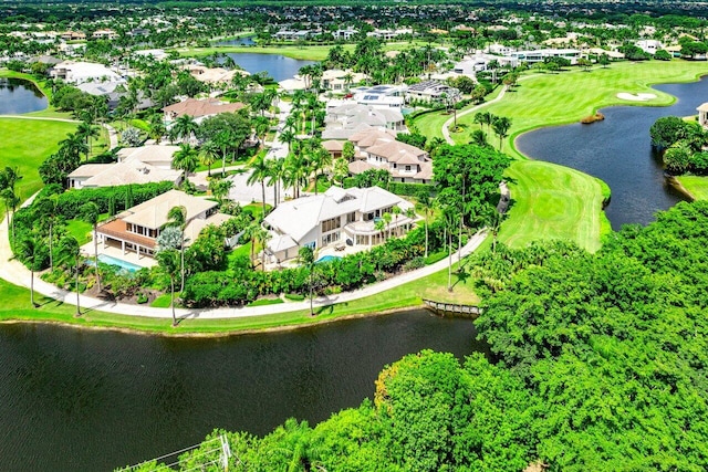
<path id="1" fill-rule="evenodd" d="M 649 128 L 662 116 L 696 115 L 708 101 L 708 80 L 664 84 L 655 88 L 676 96 L 669 107 L 613 106 L 601 109 L 603 122 L 542 128 L 517 139 L 517 148 L 534 159 L 561 164 L 600 177 L 612 190 L 606 214 L 613 229 L 647 224 L 658 210 L 686 199 L 664 178 L 652 150 Z"/>

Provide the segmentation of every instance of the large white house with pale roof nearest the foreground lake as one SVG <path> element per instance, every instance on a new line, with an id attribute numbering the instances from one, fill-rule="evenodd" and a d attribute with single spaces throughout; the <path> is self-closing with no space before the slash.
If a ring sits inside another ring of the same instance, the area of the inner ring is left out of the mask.
<path id="1" fill-rule="evenodd" d="M 400 235 L 410 229 L 416 217 L 408 217 L 407 211 L 413 208 L 381 187 L 330 187 L 324 193 L 285 201 L 266 217 L 263 225 L 271 235 L 266 254 L 271 263 L 280 263 L 296 258 L 303 247 L 379 244 L 387 234 Z M 376 223 L 386 213 L 392 218 L 382 229 Z"/>

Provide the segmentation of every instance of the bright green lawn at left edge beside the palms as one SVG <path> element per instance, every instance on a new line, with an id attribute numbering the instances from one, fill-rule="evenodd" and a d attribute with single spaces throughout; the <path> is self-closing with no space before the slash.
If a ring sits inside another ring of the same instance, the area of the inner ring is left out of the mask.
<path id="1" fill-rule="evenodd" d="M 42 188 L 38 167 L 59 149 L 59 141 L 74 129 L 74 123 L 0 118 L 0 162 L 2 168 L 19 168 L 22 179 L 17 189 L 22 200 Z M 1 202 L 0 209 L 4 212 L 4 204 Z"/>

